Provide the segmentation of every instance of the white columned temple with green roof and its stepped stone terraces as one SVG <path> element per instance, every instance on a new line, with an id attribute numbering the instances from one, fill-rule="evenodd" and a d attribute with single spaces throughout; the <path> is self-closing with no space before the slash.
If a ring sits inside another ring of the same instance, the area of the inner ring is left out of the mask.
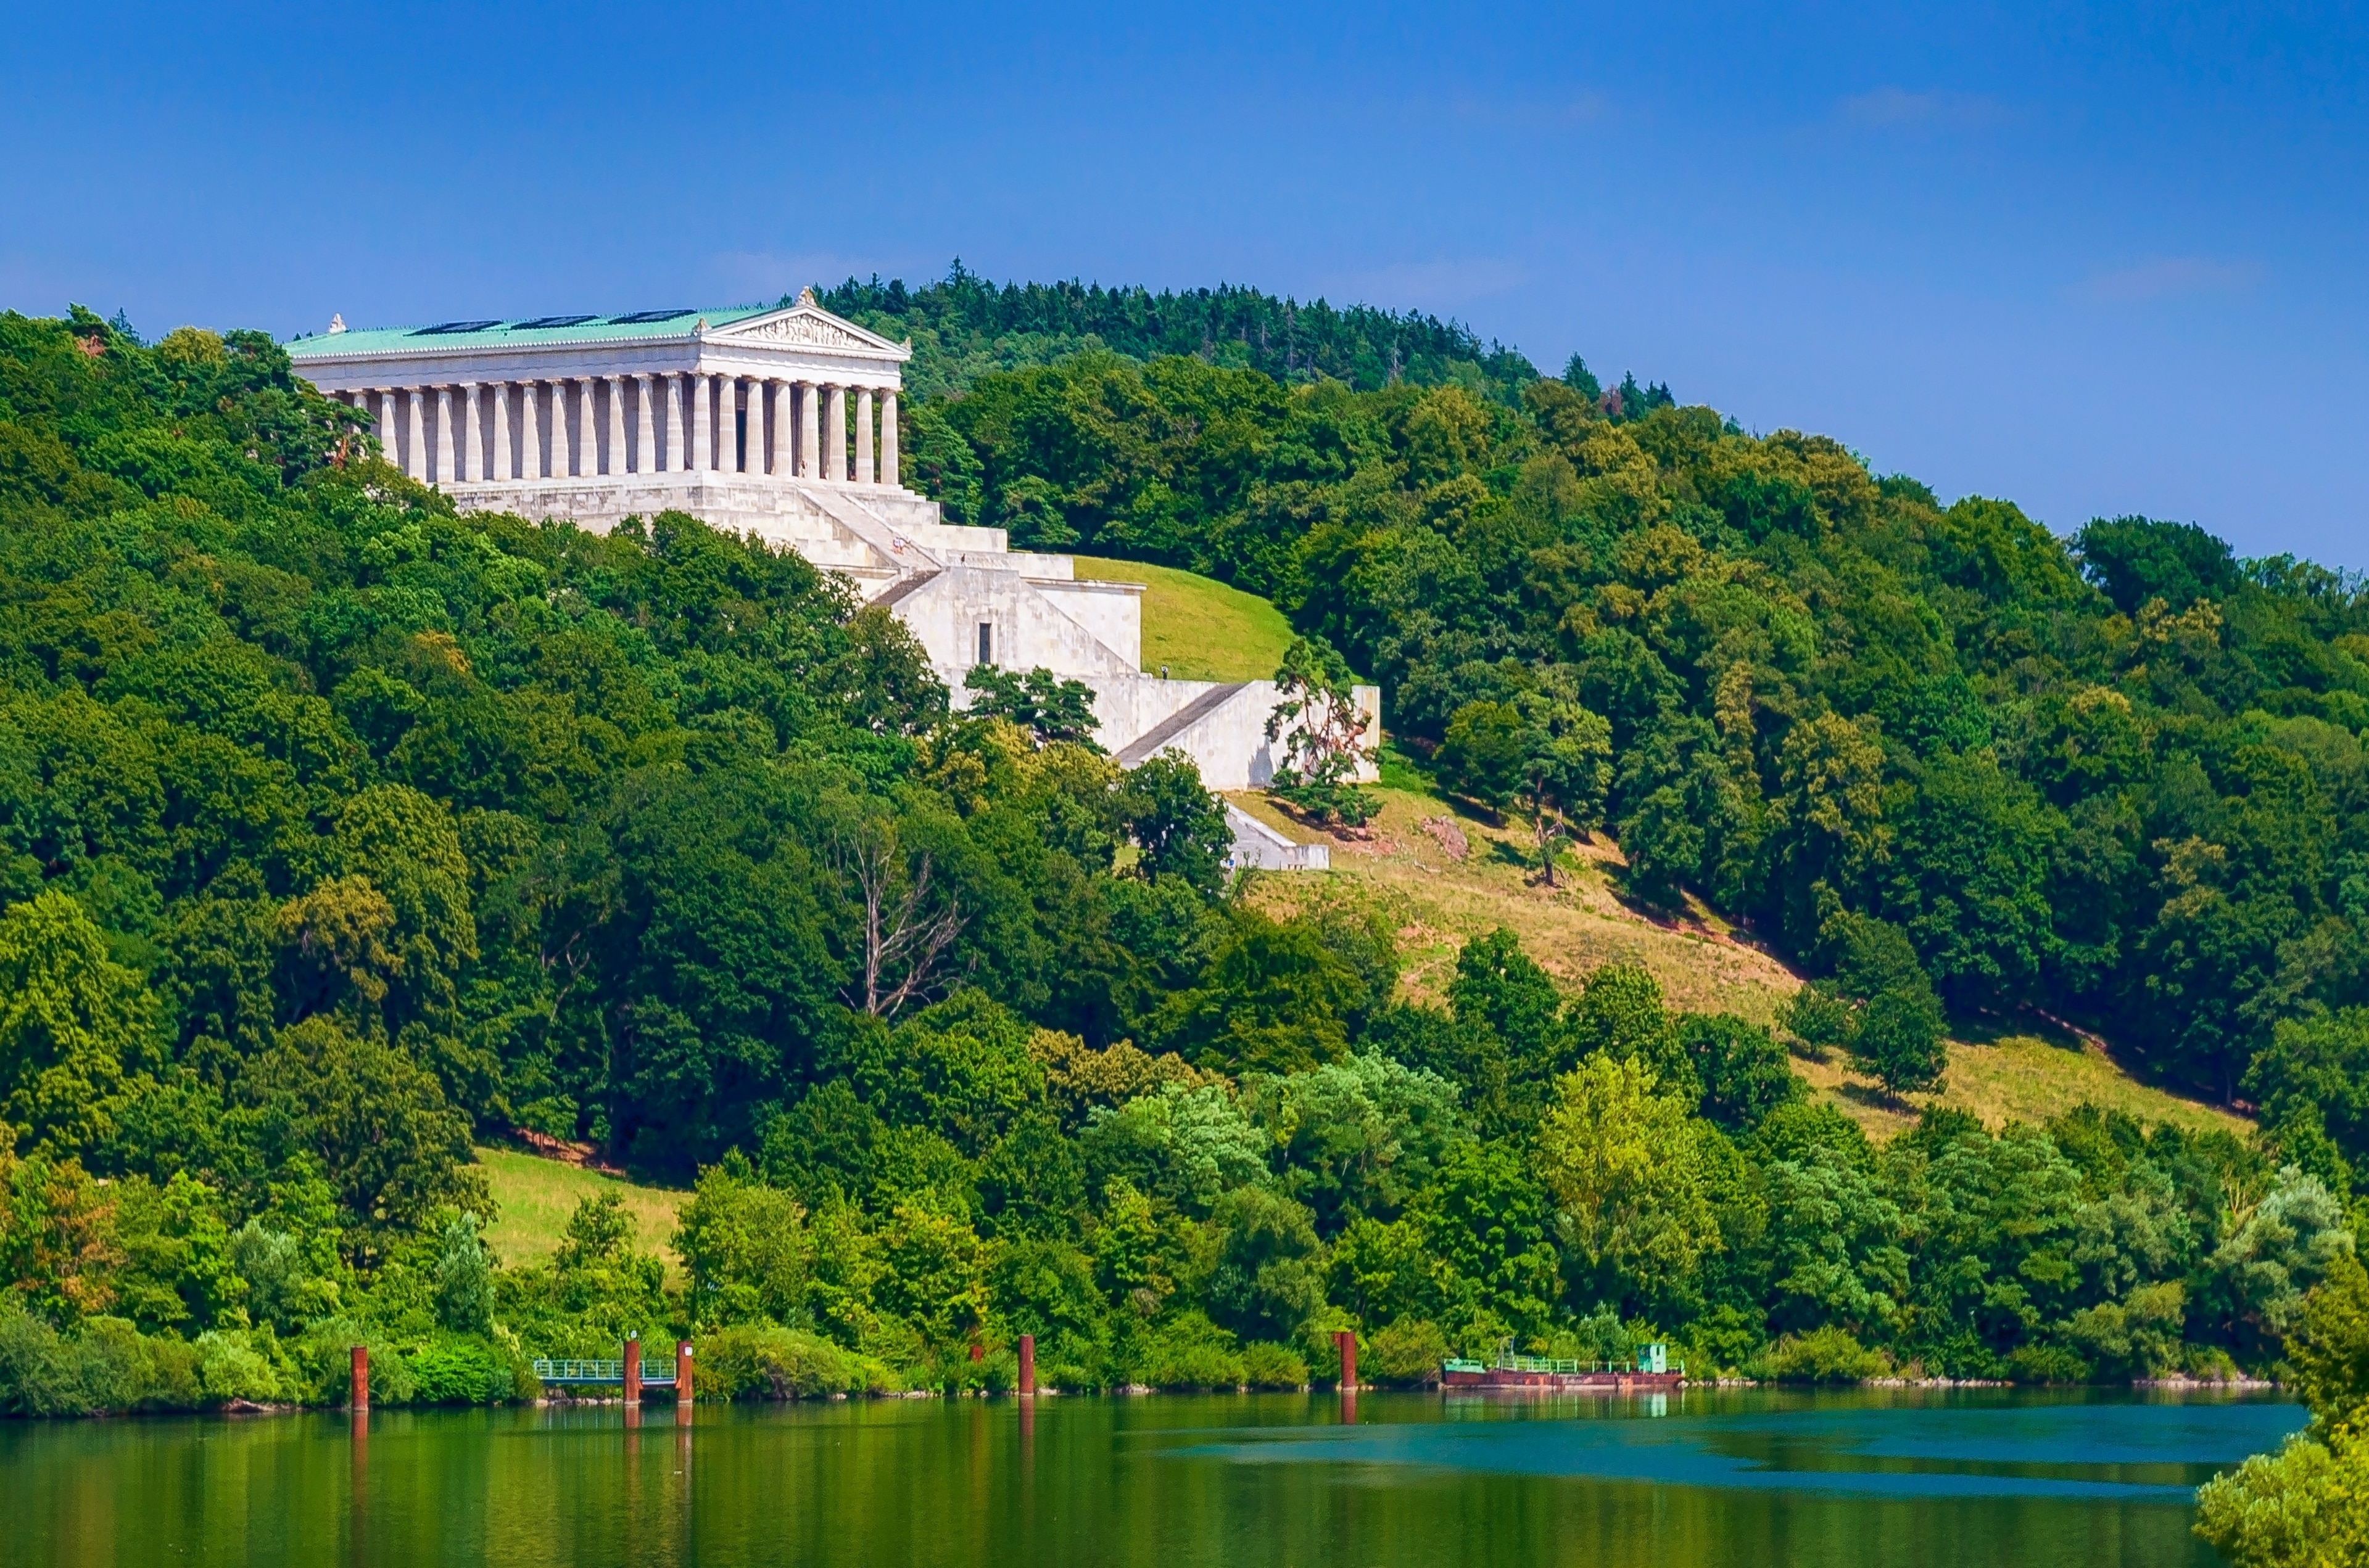
<path id="1" fill-rule="evenodd" d="M 1102 744 L 1130 767 L 1177 746 L 1211 789 L 1265 784 L 1272 682 L 1142 670 L 1139 583 L 1076 576 L 1002 528 L 945 523 L 898 467 L 905 343 L 798 296 L 787 308 L 630 310 L 329 332 L 298 374 L 367 412 L 391 462 L 462 509 L 614 528 L 687 512 L 855 583 L 929 649 L 962 699 L 978 663 L 1094 687 Z M 1381 692 L 1360 687 L 1379 739 Z"/>

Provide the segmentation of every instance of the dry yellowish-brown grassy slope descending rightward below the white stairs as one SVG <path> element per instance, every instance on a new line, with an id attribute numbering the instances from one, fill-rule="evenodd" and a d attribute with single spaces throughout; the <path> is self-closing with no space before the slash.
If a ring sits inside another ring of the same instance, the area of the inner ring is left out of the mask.
<path id="1" fill-rule="evenodd" d="M 1395 782 L 1419 775 L 1391 770 Z M 1564 985 L 1575 985 L 1604 964 L 1644 964 L 1661 981 L 1670 1004 L 1684 1011 L 1732 1011 L 1767 1023 L 1800 978 L 1774 957 L 1736 943 L 1718 919 L 1661 926 L 1625 907 L 1611 872 L 1620 855 L 1611 843 L 1578 846 L 1564 862 L 1561 888 L 1542 888 L 1523 862 L 1528 850 L 1519 827 L 1497 827 L 1459 812 L 1417 789 L 1383 789 L 1383 812 L 1372 838 L 1331 838 L 1331 879 L 1270 876 L 1253 893 L 1289 905 L 1317 893 L 1327 881 L 1381 895 L 1400 926 L 1407 955 L 1405 988 L 1419 1000 L 1440 1000 L 1455 973 L 1457 947 L 1492 926 L 1511 926 L 1523 947 Z M 1289 822 L 1258 793 L 1232 796 L 1237 805 L 1282 827 L 1293 838 L 1315 838 Z M 1440 834 L 1424 824 L 1452 824 L 1466 838 L 1466 855 L 1452 857 Z M 1917 1118 L 1914 1101 L 1898 1101 L 1855 1078 L 1841 1059 L 1796 1061 L 1812 1094 L 1850 1113 L 1874 1137 L 1888 1137 Z M 2094 1101 L 2146 1123 L 2179 1123 L 2191 1130 L 2248 1123 L 2179 1094 L 2134 1080 L 2094 1042 L 2042 1040 L 1999 1033 L 1983 1042 L 1950 1047 L 1950 1075 L 1940 1101 L 2004 1120 L 2042 1120 Z"/>

